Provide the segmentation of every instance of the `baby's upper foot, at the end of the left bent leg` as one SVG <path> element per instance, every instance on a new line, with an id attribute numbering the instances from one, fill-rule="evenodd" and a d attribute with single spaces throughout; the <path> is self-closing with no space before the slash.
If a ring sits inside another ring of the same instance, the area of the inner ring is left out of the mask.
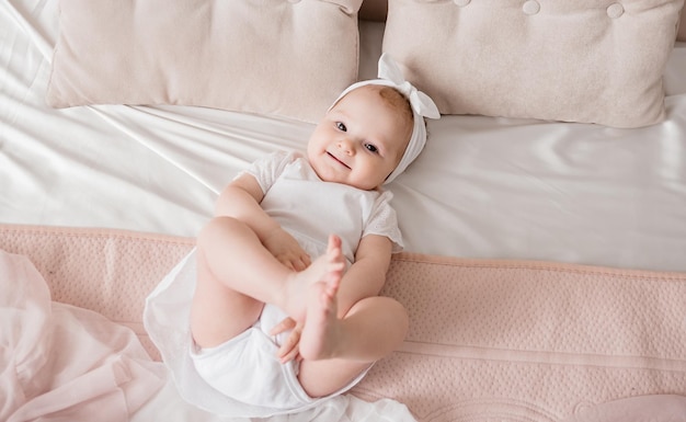
<path id="1" fill-rule="evenodd" d="M 341 251 L 341 239 L 338 236 L 329 238 L 327 253 L 315 260 L 310 266 L 301 272 L 293 274 L 286 282 L 286 299 L 284 310 L 296 321 L 304 321 L 309 306 L 310 287 L 323 284 L 335 292 L 339 289 L 343 270 L 345 269 L 345 256 Z"/>

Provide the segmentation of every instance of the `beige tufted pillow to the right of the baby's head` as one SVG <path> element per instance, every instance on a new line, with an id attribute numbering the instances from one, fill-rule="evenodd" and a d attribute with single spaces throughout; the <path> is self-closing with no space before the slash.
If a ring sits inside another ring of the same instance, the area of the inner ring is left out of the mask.
<path id="1" fill-rule="evenodd" d="M 684 0 L 390 0 L 384 50 L 444 114 L 639 127 Z"/>

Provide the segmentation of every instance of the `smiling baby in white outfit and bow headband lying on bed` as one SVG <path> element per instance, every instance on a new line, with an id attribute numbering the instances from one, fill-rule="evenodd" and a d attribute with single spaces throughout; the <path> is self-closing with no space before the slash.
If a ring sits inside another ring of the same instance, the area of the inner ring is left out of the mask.
<path id="1" fill-rule="evenodd" d="M 146 326 L 195 404 L 235 417 L 301 411 L 352 388 L 404 339 L 403 306 L 378 296 L 402 248 L 381 186 L 421 152 L 424 116 L 439 114 L 386 55 L 379 77 L 339 96 L 306 155 L 276 152 L 239 174 L 193 258 L 150 295 Z M 185 352 L 158 334 L 156 303 L 179 284 L 193 293 Z"/>

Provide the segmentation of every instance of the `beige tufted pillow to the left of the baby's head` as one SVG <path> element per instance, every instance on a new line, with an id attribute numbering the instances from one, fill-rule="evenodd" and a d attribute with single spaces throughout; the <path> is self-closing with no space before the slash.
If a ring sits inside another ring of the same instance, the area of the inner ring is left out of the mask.
<path id="1" fill-rule="evenodd" d="M 362 0 L 60 0 L 47 102 L 318 122 L 357 79 Z"/>

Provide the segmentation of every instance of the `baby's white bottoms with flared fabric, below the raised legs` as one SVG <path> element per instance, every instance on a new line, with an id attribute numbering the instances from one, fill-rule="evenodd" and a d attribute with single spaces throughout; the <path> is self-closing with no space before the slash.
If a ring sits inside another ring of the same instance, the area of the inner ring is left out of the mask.
<path id="1" fill-rule="evenodd" d="M 266 418 L 309 409 L 352 388 L 366 374 L 331 396 L 309 397 L 297 378 L 299 365 L 293 361 L 282 365 L 276 357 L 288 333 L 268 335 L 286 318 L 271 305 L 245 332 L 199 350 L 188 324 L 195 276 L 193 251 L 148 296 L 144 312 L 146 330 L 186 401 L 218 415 Z"/>

